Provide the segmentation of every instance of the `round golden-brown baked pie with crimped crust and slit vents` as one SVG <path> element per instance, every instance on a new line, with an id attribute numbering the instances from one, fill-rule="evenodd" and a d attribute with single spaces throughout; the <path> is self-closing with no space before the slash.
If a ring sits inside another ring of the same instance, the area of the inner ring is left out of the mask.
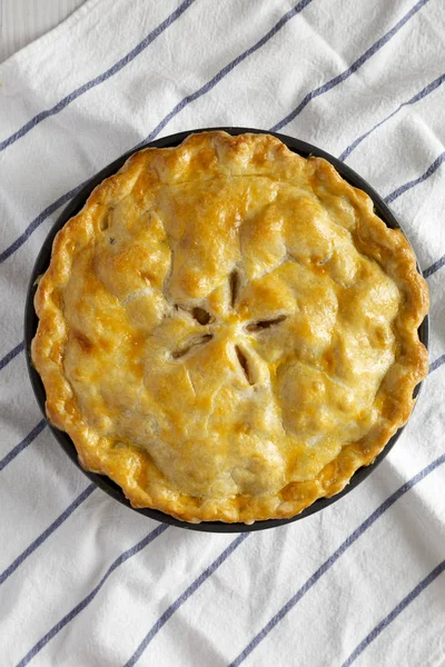
<path id="1" fill-rule="evenodd" d="M 51 424 L 135 507 L 186 521 L 337 494 L 427 372 L 403 233 L 264 133 L 135 153 L 58 232 L 34 305 Z"/>

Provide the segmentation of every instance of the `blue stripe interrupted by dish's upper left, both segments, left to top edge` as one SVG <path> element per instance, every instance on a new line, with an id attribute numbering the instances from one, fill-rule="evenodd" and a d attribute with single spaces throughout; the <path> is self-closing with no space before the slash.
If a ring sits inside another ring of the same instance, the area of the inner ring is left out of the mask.
<path id="1" fill-rule="evenodd" d="M 178 104 L 176 104 L 176 107 L 174 108 L 174 110 L 170 111 L 170 113 L 168 113 L 164 118 L 164 120 L 157 126 L 157 128 L 155 128 L 155 130 L 152 132 L 150 132 L 150 135 L 146 139 L 144 139 L 144 141 L 140 141 L 139 143 L 137 143 L 134 147 L 134 149 L 140 148 L 142 146 L 142 143 L 145 143 L 148 140 L 151 141 L 160 132 L 160 130 L 167 125 L 167 122 L 169 122 L 169 120 L 171 120 L 171 118 L 174 116 L 176 116 L 177 113 L 179 113 L 179 111 L 181 109 L 184 109 L 184 107 L 186 107 L 187 104 L 189 104 L 190 101 L 197 99 L 201 94 L 205 94 L 206 92 L 208 92 L 209 90 L 211 90 L 211 88 L 214 88 L 216 86 L 216 83 L 218 83 L 218 81 L 220 81 L 226 74 L 228 74 L 229 71 L 231 71 L 233 69 L 235 69 L 235 67 L 237 64 L 239 64 L 240 62 L 243 62 L 243 60 L 245 60 L 245 58 L 247 58 L 247 56 L 249 56 L 250 53 L 253 53 L 254 51 L 256 51 L 260 47 L 263 47 L 274 34 L 276 34 L 278 32 L 278 30 L 280 30 L 283 28 L 283 26 L 285 26 L 285 23 L 287 23 L 287 21 L 289 21 L 293 17 L 295 17 L 297 13 L 299 13 L 312 1 L 313 0 L 301 0 L 300 2 L 298 2 L 298 4 L 296 4 L 290 11 L 288 11 L 287 13 L 285 13 L 280 18 L 280 20 L 275 24 L 275 27 L 271 28 L 271 30 L 269 30 L 269 32 L 267 32 L 267 34 L 265 37 L 263 37 L 254 47 L 251 47 L 247 51 L 244 51 L 240 56 L 238 56 L 237 58 L 235 58 L 228 66 L 226 66 L 225 68 L 222 68 L 218 72 L 218 74 L 216 74 L 216 77 L 214 77 L 210 81 L 208 81 L 208 83 L 206 83 L 205 86 L 202 86 L 199 90 L 197 90 L 196 92 L 194 92 L 191 96 L 187 96 L 186 98 L 184 98 L 184 100 L 181 102 L 179 102 Z M 61 197 L 59 197 L 59 199 L 57 199 L 57 201 L 55 201 L 53 203 L 51 203 L 34 220 L 32 220 L 32 222 L 27 227 L 27 229 L 24 230 L 24 232 L 18 239 L 11 246 L 9 246 L 9 248 L 7 248 L 2 252 L 0 252 L 0 263 L 2 263 L 3 261 L 6 261 L 8 259 L 8 257 L 11 257 L 11 255 L 13 255 L 16 252 L 16 250 L 18 250 L 29 239 L 29 237 L 31 236 L 31 233 L 33 233 L 33 231 L 36 231 L 36 229 L 51 213 L 53 213 L 60 206 L 62 206 L 63 203 L 66 203 L 67 201 L 69 201 L 72 197 L 75 197 L 81 190 L 81 188 L 86 183 L 88 183 L 89 180 L 90 179 L 87 179 L 86 181 L 83 181 L 82 183 L 80 183 L 80 186 L 77 186 L 77 188 L 73 188 L 72 190 L 70 190 L 66 195 L 62 195 Z"/>

